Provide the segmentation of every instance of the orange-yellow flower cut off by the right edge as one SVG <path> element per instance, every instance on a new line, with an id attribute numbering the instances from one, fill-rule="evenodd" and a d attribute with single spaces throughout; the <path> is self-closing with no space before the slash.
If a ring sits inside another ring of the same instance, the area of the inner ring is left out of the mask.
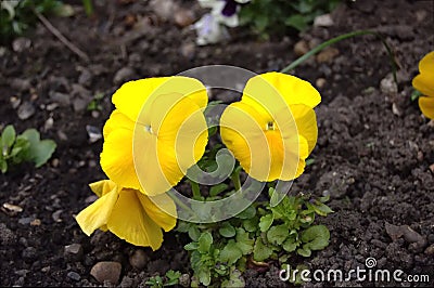
<path id="1" fill-rule="evenodd" d="M 419 62 L 419 71 L 412 81 L 414 89 L 423 94 L 419 97 L 419 107 L 423 115 L 434 119 L 434 51 Z"/>

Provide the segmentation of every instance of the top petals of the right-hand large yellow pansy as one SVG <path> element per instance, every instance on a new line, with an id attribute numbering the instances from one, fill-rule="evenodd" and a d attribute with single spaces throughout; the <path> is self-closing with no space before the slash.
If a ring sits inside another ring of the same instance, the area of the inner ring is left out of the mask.
<path id="1" fill-rule="evenodd" d="M 319 92 L 309 82 L 275 71 L 251 78 L 244 88 L 242 101 L 257 101 L 273 110 L 273 106 L 282 106 L 279 97 L 283 99 L 286 105 L 304 104 L 310 108 L 321 102 Z"/>

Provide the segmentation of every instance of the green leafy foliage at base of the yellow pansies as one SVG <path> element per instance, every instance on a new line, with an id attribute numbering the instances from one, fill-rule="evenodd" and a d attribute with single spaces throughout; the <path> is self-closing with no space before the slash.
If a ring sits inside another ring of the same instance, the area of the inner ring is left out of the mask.
<path id="1" fill-rule="evenodd" d="M 329 230 L 314 225 L 317 214 L 333 212 L 324 205 L 327 197 L 284 196 L 271 207 L 275 193 L 270 187 L 270 201 L 255 202 L 229 220 L 200 225 L 178 222 L 177 230 L 192 240 L 184 246 L 190 251 L 192 287 L 244 287 L 241 273 L 247 263 L 285 263 L 293 254 L 310 257 L 329 245 Z"/>

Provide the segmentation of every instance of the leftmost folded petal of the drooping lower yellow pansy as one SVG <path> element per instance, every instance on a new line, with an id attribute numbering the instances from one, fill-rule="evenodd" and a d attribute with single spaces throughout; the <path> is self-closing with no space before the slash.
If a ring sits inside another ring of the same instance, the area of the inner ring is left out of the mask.
<path id="1" fill-rule="evenodd" d="M 88 236 L 107 223 L 117 197 L 117 188 L 114 188 L 78 213 L 76 221 Z"/>

